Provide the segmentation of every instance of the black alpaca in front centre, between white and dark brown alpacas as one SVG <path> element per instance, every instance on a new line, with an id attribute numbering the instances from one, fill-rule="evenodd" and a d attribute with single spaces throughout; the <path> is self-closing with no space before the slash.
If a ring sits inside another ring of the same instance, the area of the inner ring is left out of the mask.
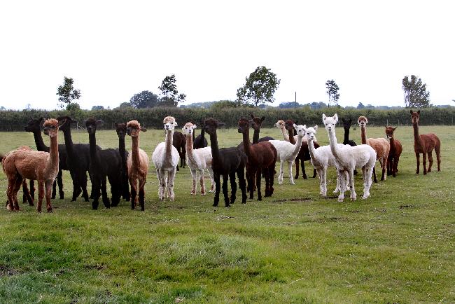
<path id="1" fill-rule="evenodd" d="M 218 123 L 218 120 L 207 119 L 204 122 L 205 132 L 210 136 L 211 155 L 213 162 L 211 164 L 214 170 L 215 179 L 215 198 L 214 207 L 218 206 L 220 201 L 220 177 L 223 176 L 223 195 L 225 207 L 230 207 L 230 204 L 235 202 L 235 193 L 237 191 L 237 184 L 235 182 L 235 174 L 239 178 L 239 187 L 241 190 L 241 202 L 246 203 L 246 183 L 245 183 L 245 165 L 246 155 L 239 151 L 237 147 L 232 148 L 218 148 L 218 138 L 216 136 L 216 129 L 224 123 Z M 231 184 L 231 198 L 228 195 L 228 179 Z"/>

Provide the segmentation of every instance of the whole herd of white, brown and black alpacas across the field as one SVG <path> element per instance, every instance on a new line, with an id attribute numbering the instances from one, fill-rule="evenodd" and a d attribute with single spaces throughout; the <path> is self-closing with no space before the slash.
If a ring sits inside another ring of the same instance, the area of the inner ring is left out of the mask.
<path id="1" fill-rule="evenodd" d="M 437 170 L 440 171 L 440 139 L 435 134 L 419 134 L 420 111 L 410 111 L 414 130 L 414 151 L 416 154 L 417 169 L 419 174 L 420 153 L 423 154 L 423 174 L 431 171 L 433 165 L 432 152 L 435 150 Z M 57 119 L 48 119 L 43 123 L 44 134 L 50 137 L 50 146 L 45 146 L 41 136 L 41 123 L 43 118 L 31 119 L 25 127 L 27 132 L 34 134 L 34 141 L 38 151 L 32 151 L 28 146 L 6 153 L 0 160 L 3 172 L 8 179 L 6 191 L 8 209 L 20 209 L 17 193 L 22 186 L 24 202 L 34 205 L 34 182 L 38 183 L 37 211 L 41 212 L 41 205 L 45 198 L 46 209 L 52 212 L 51 199 L 56 196 L 56 184 L 59 188 L 59 198 L 64 198 L 62 170 L 68 170 L 73 181 L 73 196 L 75 201 L 82 195 L 87 202 L 92 199 L 92 209 L 97 209 L 99 198 L 102 198 L 104 207 L 116 207 L 123 198 L 131 202 L 131 207 L 145 209 L 145 186 L 148 174 L 149 158 L 147 153 L 139 148 L 139 134 L 146 132 L 137 120 L 127 123 L 116 123 L 118 135 L 118 148 L 100 148 L 97 146 L 96 132 L 102 126 L 102 120 L 89 118 L 85 120 L 89 144 L 74 144 L 71 138 L 71 123 L 76 120 L 68 116 Z M 206 195 L 204 173 L 208 172 L 211 179 L 209 192 L 214 192 L 214 204 L 218 206 L 220 192 L 223 191 L 225 207 L 230 207 L 237 194 L 237 181 L 241 190 L 241 202 L 246 203 L 246 192 L 253 199 L 257 192 L 258 200 L 262 200 L 261 180 L 265 179 L 264 197 L 271 197 L 274 193 L 274 175 L 276 161 L 279 161 L 278 184 L 283 184 L 284 163 L 288 163 L 289 183 L 295 184 L 299 174 L 300 161 L 302 176 L 307 178 L 304 170 L 304 161 L 309 160 L 319 177 L 320 194 L 327 196 L 327 171 L 334 167 L 337 173 L 337 186 L 334 193 L 339 192 L 338 201 L 344 201 L 344 193 L 350 192 L 351 200 L 356 200 L 354 185 L 355 170 L 361 170 L 363 176 L 363 199 L 370 196 L 372 177 L 377 182 L 374 166 L 377 160 L 381 165 L 381 181 L 388 175 L 396 177 L 398 162 L 402 153 L 402 144 L 395 139 L 396 127 L 386 126 L 387 139 L 367 138 L 366 126 L 368 120 L 365 116 L 358 118 L 360 127 L 361 144 L 356 144 L 349 139 L 349 129 L 352 118 L 342 118 L 344 127 L 343 144 L 338 144 L 335 126 L 338 116 L 322 116 L 322 122 L 328 133 L 329 144 L 320 146 L 316 140 L 318 125 L 307 127 L 297 125 L 293 120 L 278 120 L 275 124 L 283 134 L 283 140 L 272 137 L 259 138 L 260 127 L 265 117 L 258 118 L 251 114 L 251 120 L 240 118 L 238 132 L 242 141 L 238 146 L 228 148 L 218 147 L 217 130 L 224 123 L 209 118 L 200 122 L 201 134 L 195 137 L 197 125 L 188 122 L 183 125 L 182 131 L 174 131 L 178 125 L 176 119 L 167 116 L 163 120 L 165 138 L 155 147 L 152 153 L 152 162 L 158 178 L 158 199 L 175 200 L 174 181 L 176 171 L 188 165 L 193 179 L 190 194 L 197 194 L 197 180 L 200 181 L 200 194 Z M 250 141 L 250 128 L 253 128 L 253 139 Z M 58 144 L 58 131 L 64 134 L 64 144 Z M 205 134 L 209 134 L 208 146 Z M 125 145 L 126 134 L 131 137 L 130 152 Z M 426 158 L 428 156 L 428 170 Z M 180 164 L 179 164 L 180 159 Z M 296 176 L 293 177 L 292 167 L 296 165 Z M 90 197 L 87 192 L 87 172 L 91 180 Z M 221 177 L 223 184 L 221 185 Z M 30 188 L 26 180 L 30 181 Z M 57 180 L 57 183 L 55 181 Z M 107 182 L 111 187 L 111 198 L 107 191 Z M 228 181 L 231 193 L 228 194 Z M 248 186 L 247 186 L 248 183 Z M 131 192 L 130 192 L 131 189 Z"/>

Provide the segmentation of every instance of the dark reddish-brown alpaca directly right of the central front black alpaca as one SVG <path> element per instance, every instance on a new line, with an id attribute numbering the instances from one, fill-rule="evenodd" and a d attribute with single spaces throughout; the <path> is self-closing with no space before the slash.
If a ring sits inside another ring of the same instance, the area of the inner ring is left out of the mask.
<path id="1" fill-rule="evenodd" d="M 269 141 L 261 141 L 258 144 L 251 144 L 249 139 L 250 120 L 240 118 L 239 120 L 239 133 L 243 134 L 244 151 L 248 157 L 246 163 L 246 172 L 251 179 L 251 186 L 249 187 L 250 199 L 254 196 L 254 187 L 258 190 L 258 200 L 262 200 L 260 193 L 260 179 L 261 172 L 264 172 L 265 177 L 265 197 L 272 196 L 274 171 L 276 163 L 276 148 L 269 143 Z M 254 182 L 256 181 L 256 184 Z"/>

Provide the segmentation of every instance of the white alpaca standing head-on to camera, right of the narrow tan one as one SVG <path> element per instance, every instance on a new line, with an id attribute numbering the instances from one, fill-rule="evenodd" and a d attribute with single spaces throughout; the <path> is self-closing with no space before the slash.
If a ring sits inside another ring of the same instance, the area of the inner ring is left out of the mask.
<path id="1" fill-rule="evenodd" d="M 165 200 L 166 193 L 170 200 L 174 200 L 174 179 L 176 176 L 176 167 L 179 164 L 179 152 L 176 147 L 172 146 L 172 136 L 177 123 L 176 119 L 172 116 L 167 116 L 163 120 L 163 123 L 165 124 L 166 139 L 165 142 L 160 142 L 156 146 L 152 154 L 152 161 L 156 168 L 158 182 L 160 183 L 158 197 L 160 200 Z"/>

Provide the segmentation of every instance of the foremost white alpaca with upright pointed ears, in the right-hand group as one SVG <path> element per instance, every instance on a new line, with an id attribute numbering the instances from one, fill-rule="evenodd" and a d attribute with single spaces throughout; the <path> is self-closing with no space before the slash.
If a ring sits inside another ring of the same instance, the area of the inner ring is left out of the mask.
<path id="1" fill-rule="evenodd" d="M 362 168 L 363 172 L 363 199 L 370 196 L 371 175 L 373 172 L 374 163 L 376 163 L 376 152 L 367 144 L 358 146 L 337 144 L 337 137 L 335 135 L 335 125 L 338 122 L 338 116 L 335 114 L 333 117 L 327 117 L 322 114 L 322 121 L 325 125 L 325 130 L 328 132 L 328 139 L 330 141 L 330 150 L 335 157 L 335 163 L 338 169 L 338 177 L 340 181 L 340 191 L 338 202 L 344 200 L 345 183 L 343 175 L 347 171 L 349 173 L 349 186 L 351 188 L 351 200 L 356 200 L 356 191 L 354 189 L 354 169 Z"/>

